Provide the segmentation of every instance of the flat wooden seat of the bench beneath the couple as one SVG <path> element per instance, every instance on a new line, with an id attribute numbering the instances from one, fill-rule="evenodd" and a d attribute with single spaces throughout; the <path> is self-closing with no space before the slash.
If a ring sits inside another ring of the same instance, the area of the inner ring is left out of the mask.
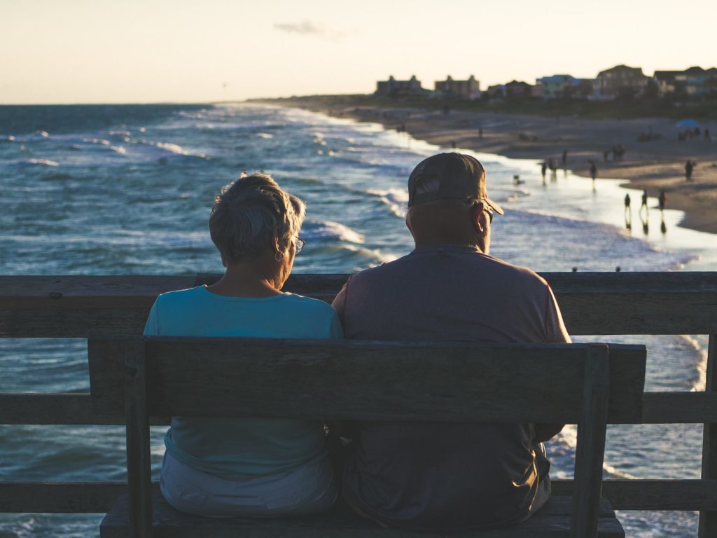
<path id="1" fill-rule="evenodd" d="M 321 537 L 438 537 L 455 538 L 538 538 L 570 536 L 572 499 L 554 496 L 537 514 L 516 526 L 483 532 L 426 533 L 384 529 L 355 516 L 346 506 L 336 506 L 320 516 L 282 519 L 208 518 L 191 516 L 172 508 L 153 489 L 153 536 L 156 538 L 321 538 Z M 607 499 L 600 500 L 598 534 L 604 538 L 624 538 L 625 531 L 615 518 Z M 127 538 L 128 497 L 120 496 L 100 525 L 101 538 Z"/>

